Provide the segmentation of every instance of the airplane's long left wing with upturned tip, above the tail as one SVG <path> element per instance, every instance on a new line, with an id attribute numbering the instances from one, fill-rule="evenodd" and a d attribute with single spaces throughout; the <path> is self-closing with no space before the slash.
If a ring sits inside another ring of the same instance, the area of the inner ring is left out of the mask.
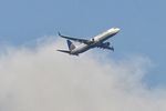
<path id="1" fill-rule="evenodd" d="M 85 44 L 89 44 L 89 43 L 90 43 L 90 40 L 77 39 L 77 38 L 72 38 L 72 37 L 62 36 L 60 32 L 59 32 L 59 36 L 60 36 L 61 38 L 65 38 L 65 39 L 73 40 L 73 41 L 76 41 L 76 42 L 81 42 L 81 43 L 85 43 Z"/>

